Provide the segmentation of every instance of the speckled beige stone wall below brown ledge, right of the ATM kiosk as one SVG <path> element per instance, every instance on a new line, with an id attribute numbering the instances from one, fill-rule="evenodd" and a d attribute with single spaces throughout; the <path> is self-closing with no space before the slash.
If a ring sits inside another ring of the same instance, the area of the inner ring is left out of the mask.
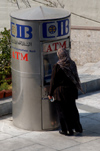
<path id="1" fill-rule="evenodd" d="M 100 61 L 100 29 L 71 29 L 71 58 L 77 65 Z"/>

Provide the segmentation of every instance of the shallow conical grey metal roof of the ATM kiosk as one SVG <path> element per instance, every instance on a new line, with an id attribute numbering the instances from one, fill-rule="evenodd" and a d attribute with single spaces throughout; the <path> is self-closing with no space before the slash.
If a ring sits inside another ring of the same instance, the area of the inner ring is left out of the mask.
<path id="1" fill-rule="evenodd" d="M 11 13 L 11 17 L 21 20 L 50 20 L 69 16 L 70 13 L 65 9 L 52 7 L 33 7 Z"/>

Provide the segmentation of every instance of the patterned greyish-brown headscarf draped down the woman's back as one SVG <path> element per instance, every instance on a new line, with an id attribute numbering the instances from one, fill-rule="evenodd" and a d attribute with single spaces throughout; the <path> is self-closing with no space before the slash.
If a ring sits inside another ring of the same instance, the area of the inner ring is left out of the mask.
<path id="1" fill-rule="evenodd" d="M 60 65 L 61 69 L 65 72 L 66 76 L 75 84 L 76 88 L 82 93 L 83 90 L 80 85 L 80 79 L 77 73 L 77 67 L 73 60 L 69 56 L 69 51 L 65 48 L 59 48 L 57 51 L 57 56 L 59 58 L 57 64 Z"/>

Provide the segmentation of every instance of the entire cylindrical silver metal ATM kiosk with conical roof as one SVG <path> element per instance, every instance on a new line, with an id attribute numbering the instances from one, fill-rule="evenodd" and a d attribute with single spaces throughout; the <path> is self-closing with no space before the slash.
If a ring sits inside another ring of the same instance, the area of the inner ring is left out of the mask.
<path id="1" fill-rule="evenodd" d="M 27 130 L 58 127 L 48 98 L 57 49 L 70 49 L 70 13 L 39 6 L 11 13 L 13 122 Z"/>

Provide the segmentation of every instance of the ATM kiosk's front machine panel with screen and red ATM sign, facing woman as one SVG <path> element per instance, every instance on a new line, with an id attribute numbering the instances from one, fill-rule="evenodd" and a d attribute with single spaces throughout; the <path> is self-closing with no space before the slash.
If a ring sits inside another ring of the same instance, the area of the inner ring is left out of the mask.
<path id="1" fill-rule="evenodd" d="M 50 80 L 53 65 L 58 61 L 57 50 L 63 46 L 69 50 L 69 37 L 63 40 L 42 43 L 42 115 L 43 115 L 43 129 L 51 129 L 59 127 L 57 113 L 52 102 L 48 101 Z M 55 50 L 56 45 L 56 50 Z M 49 119 L 49 120 L 48 120 Z"/>

